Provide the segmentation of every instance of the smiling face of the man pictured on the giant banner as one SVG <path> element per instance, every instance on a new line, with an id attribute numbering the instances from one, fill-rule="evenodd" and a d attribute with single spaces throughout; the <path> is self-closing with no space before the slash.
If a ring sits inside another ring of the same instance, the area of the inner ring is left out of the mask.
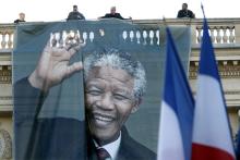
<path id="1" fill-rule="evenodd" d="M 121 69 L 93 67 L 86 79 L 86 119 L 92 136 L 99 144 L 118 138 L 131 113 L 137 110 L 134 79 Z"/>

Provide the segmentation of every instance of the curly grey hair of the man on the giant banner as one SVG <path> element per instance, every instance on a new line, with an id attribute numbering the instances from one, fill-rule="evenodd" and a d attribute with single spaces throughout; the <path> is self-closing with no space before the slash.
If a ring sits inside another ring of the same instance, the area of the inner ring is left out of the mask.
<path id="1" fill-rule="evenodd" d="M 121 69 L 128 72 L 134 78 L 133 96 L 140 100 L 146 89 L 146 74 L 140 61 L 133 59 L 128 52 L 121 52 L 116 49 L 110 49 L 106 52 L 95 52 L 89 54 L 84 60 L 84 76 L 87 75 L 94 66 L 111 66 Z"/>

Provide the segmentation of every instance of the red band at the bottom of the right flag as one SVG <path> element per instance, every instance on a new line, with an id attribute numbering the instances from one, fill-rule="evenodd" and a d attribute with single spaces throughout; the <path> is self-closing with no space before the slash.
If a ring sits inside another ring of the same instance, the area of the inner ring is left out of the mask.
<path id="1" fill-rule="evenodd" d="M 235 160 L 229 152 L 215 147 L 193 144 L 192 160 Z"/>

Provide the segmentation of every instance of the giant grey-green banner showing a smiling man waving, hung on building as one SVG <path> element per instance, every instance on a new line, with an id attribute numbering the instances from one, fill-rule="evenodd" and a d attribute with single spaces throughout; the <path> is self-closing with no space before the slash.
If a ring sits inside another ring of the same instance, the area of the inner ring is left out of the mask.
<path id="1" fill-rule="evenodd" d="M 190 27 L 170 29 L 187 71 Z M 156 159 L 165 26 L 22 24 L 14 46 L 16 160 Z"/>

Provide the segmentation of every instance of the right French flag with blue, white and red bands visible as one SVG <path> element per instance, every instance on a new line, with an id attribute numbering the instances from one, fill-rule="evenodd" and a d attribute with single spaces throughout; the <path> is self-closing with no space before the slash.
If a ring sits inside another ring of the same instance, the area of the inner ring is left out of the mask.
<path id="1" fill-rule="evenodd" d="M 204 15 L 195 99 L 192 160 L 233 160 L 223 87 Z"/>

